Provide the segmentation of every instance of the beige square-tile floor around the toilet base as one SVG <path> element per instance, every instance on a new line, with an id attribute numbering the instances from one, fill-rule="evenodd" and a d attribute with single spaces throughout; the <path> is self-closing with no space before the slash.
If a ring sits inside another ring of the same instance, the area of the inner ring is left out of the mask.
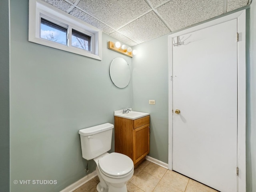
<path id="1" fill-rule="evenodd" d="M 74 192 L 97 192 L 98 176 Z M 128 192 L 218 192 L 182 174 L 145 160 L 134 170 Z"/>

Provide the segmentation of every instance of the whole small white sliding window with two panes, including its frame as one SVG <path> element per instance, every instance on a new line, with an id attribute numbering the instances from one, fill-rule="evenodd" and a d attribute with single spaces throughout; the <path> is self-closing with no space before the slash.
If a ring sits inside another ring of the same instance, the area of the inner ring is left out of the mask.
<path id="1" fill-rule="evenodd" d="M 41 0 L 29 1 L 28 40 L 37 44 L 102 59 L 102 32 Z"/>

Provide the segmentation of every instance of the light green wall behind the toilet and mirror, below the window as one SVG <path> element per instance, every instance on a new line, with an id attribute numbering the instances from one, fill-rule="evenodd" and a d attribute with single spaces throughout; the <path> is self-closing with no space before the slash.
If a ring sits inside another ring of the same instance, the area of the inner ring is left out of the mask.
<path id="1" fill-rule="evenodd" d="M 114 110 L 131 106 L 131 84 L 117 88 L 109 76 L 114 58 L 131 58 L 109 50 L 116 40 L 106 34 L 102 61 L 28 42 L 28 0 L 10 1 L 10 23 L 11 191 L 58 192 L 86 175 L 78 130 L 114 124 Z"/>

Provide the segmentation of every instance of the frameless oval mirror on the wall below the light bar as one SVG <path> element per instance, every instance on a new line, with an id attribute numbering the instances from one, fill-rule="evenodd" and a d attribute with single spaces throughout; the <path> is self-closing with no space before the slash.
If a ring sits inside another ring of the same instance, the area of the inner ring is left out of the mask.
<path id="1" fill-rule="evenodd" d="M 128 63 L 121 57 L 114 58 L 110 64 L 109 74 L 112 82 L 119 88 L 128 86 L 131 71 Z"/>

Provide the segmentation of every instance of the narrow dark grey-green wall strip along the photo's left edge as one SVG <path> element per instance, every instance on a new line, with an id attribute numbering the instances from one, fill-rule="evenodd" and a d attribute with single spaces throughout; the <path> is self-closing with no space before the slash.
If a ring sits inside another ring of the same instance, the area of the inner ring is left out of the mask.
<path id="1" fill-rule="evenodd" d="M 10 191 L 9 0 L 0 1 L 0 191 Z"/>

